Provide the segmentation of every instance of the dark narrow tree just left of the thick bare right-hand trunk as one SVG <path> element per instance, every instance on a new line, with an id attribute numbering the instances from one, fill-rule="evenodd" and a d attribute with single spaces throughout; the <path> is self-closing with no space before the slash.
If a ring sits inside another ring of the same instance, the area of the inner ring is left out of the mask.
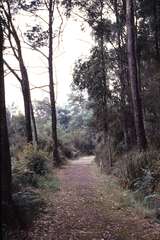
<path id="1" fill-rule="evenodd" d="M 120 81 L 120 108 L 121 108 L 121 119 L 122 119 L 122 128 L 124 135 L 124 144 L 125 148 L 129 148 L 129 133 L 128 133 L 128 124 L 127 124 L 127 103 L 126 99 L 128 90 L 127 83 L 127 72 L 126 72 L 126 48 L 125 48 L 125 1 L 112 1 L 113 13 L 116 18 L 115 22 L 115 42 L 116 42 L 116 55 L 117 55 L 117 65 L 118 71 L 117 75 Z M 133 135 L 134 136 L 134 135 Z M 132 139 L 134 139 L 132 136 Z M 133 143 L 133 141 L 132 141 Z"/>

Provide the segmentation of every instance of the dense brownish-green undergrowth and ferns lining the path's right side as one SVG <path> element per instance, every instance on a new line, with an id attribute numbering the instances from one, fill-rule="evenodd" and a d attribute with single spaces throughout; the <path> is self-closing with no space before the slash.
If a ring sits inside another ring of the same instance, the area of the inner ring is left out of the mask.
<path id="1" fill-rule="evenodd" d="M 138 212 L 143 213 L 144 217 L 152 217 L 160 222 L 159 151 L 148 149 L 138 152 L 135 149 L 119 155 L 112 152 L 112 166 L 111 162 L 107 160 L 109 158 L 108 150 L 100 151 L 99 146 L 96 153 L 96 161 L 103 171 L 116 177 L 117 186 L 126 190 L 127 204 L 138 209 Z M 112 195 L 115 195 L 116 198 L 115 193 Z"/>

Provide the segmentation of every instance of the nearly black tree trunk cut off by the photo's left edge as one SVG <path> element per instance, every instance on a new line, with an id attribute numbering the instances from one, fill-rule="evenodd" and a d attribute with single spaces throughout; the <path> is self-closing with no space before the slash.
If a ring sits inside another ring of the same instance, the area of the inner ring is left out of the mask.
<path id="1" fill-rule="evenodd" d="M 0 18 L 0 174 L 1 174 L 1 201 L 2 217 L 5 217 L 4 206 L 11 204 L 11 157 L 6 120 L 4 69 L 3 69 L 3 29 Z"/>

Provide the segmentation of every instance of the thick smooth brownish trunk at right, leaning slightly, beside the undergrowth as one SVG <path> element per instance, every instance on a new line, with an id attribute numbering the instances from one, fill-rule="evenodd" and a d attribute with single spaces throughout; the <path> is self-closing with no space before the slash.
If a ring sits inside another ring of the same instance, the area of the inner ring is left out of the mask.
<path id="1" fill-rule="evenodd" d="M 147 147 L 147 140 L 145 135 L 143 112 L 141 96 L 137 77 L 137 58 L 135 47 L 135 24 L 134 24 L 134 8 L 133 0 L 126 1 L 126 24 L 127 24 L 127 47 L 128 47 L 128 68 L 129 78 L 131 84 L 131 94 L 134 110 L 134 122 L 136 127 L 137 145 L 140 150 Z"/>

